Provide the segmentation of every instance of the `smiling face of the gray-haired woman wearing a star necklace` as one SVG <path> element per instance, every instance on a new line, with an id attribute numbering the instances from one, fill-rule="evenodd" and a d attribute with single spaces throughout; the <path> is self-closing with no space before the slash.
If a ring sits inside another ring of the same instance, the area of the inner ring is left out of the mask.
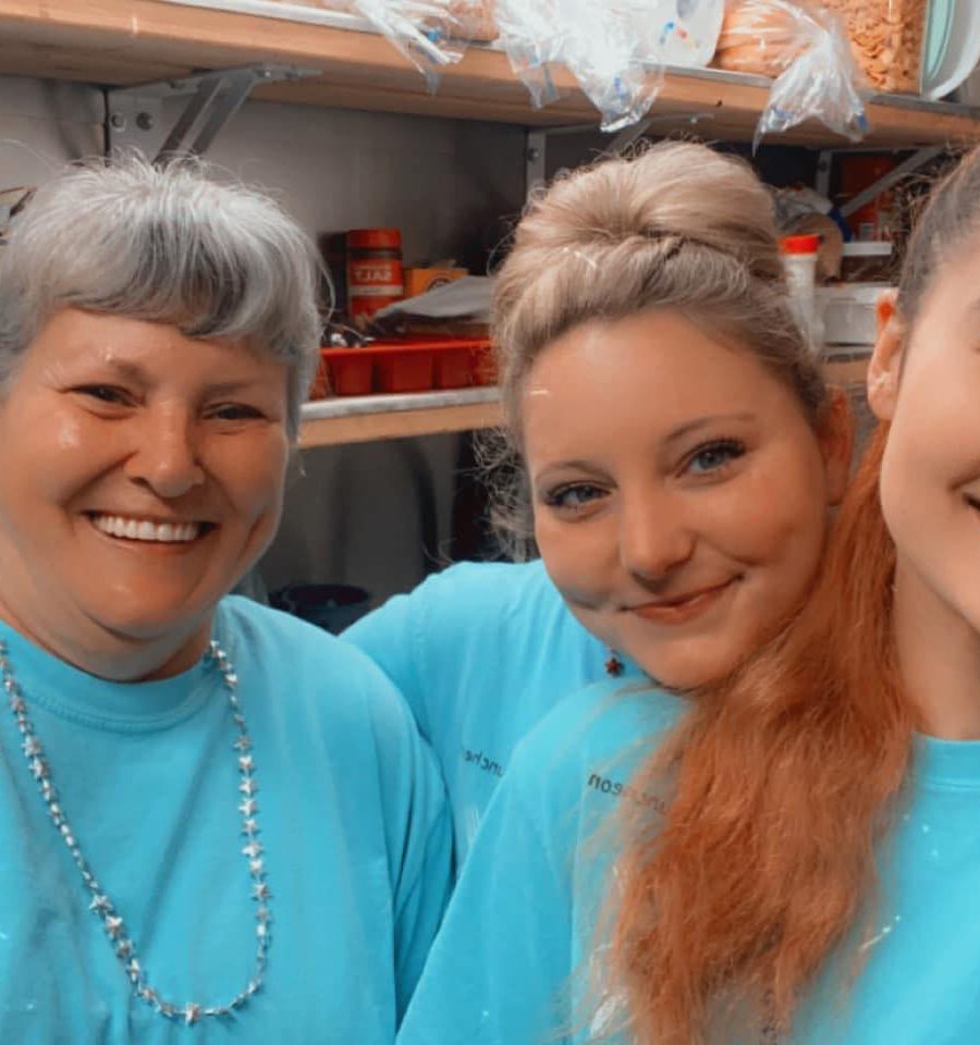
<path id="1" fill-rule="evenodd" d="M 58 312 L 0 402 L 0 613 L 97 674 L 186 666 L 275 532 L 285 409 L 242 345 Z"/>

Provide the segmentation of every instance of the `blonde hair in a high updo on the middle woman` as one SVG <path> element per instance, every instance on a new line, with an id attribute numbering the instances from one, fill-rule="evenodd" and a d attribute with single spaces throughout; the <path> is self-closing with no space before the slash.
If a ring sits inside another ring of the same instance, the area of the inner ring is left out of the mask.
<path id="1" fill-rule="evenodd" d="M 660 308 L 752 352 L 796 394 L 814 430 L 823 423 L 826 388 L 791 309 L 772 199 L 751 168 L 679 142 L 600 160 L 530 201 L 497 278 L 493 340 L 507 430 L 504 445 L 485 445 L 482 457 L 512 552 L 530 537 L 513 460 L 535 360 L 580 323 Z"/>

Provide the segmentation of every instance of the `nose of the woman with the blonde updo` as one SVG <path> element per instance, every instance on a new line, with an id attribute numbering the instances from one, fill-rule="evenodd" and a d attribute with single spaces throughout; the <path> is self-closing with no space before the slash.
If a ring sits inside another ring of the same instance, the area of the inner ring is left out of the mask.
<path id="1" fill-rule="evenodd" d="M 623 568 L 649 583 L 686 563 L 696 537 L 677 495 L 650 490 L 623 494 L 618 543 Z"/>

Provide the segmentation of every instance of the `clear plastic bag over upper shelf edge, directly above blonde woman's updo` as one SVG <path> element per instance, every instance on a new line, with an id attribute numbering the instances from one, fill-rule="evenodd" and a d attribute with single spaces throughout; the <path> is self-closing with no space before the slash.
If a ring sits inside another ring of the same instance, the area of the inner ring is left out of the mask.
<path id="1" fill-rule="evenodd" d="M 640 120 L 666 63 L 706 65 L 722 0 L 495 0 L 500 42 L 538 107 L 558 91 L 549 66 L 574 74 L 603 131 Z M 696 27 L 696 28 L 695 28 Z"/>

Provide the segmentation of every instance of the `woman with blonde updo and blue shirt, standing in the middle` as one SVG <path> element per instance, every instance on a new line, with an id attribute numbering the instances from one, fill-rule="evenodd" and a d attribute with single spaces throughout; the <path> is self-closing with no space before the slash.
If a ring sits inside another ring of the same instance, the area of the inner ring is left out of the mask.
<path id="1" fill-rule="evenodd" d="M 512 525 L 541 557 L 460 564 L 344 636 L 432 743 L 461 865 L 563 698 L 610 672 L 699 685 L 796 605 L 849 452 L 738 160 L 673 144 L 560 181 L 497 312 L 516 501 L 534 491 Z"/>

